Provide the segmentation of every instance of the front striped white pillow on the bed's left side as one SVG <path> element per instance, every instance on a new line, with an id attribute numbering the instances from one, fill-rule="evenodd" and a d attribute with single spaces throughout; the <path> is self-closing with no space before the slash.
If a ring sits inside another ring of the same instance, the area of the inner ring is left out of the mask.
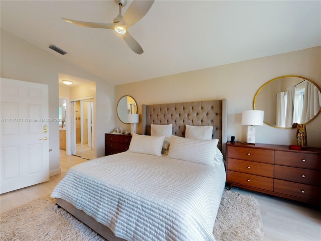
<path id="1" fill-rule="evenodd" d="M 165 136 L 151 137 L 133 134 L 128 151 L 154 156 L 162 156 L 162 146 Z"/>

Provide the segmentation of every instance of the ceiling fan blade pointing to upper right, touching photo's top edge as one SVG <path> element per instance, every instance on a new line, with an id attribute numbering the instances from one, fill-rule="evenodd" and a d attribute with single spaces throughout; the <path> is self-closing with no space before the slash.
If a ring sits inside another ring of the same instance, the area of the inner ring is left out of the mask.
<path id="1" fill-rule="evenodd" d="M 149 11 L 150 7 L 154 3 L 154 0 L 148 1 L 139 1 L 135 0 L 132 4 L 128 7 L 124 17 L 120 21 L 119 25 L 133 25 L 134 23 L 138 22 L 146 15 Z"/>

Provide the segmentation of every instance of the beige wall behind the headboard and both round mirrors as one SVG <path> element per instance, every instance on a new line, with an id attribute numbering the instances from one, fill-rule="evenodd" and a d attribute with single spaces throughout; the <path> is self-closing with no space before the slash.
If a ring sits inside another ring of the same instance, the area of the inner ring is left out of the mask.
<path id="1" fill-rule="evenodd" d="M 218 56 L 219 57 L 219 56 Z M 132 96 L 141 117 L 142 104 L 200 101 L 226 98 L 228 101 L 228 140 L 246 141 L 241 112 L 253 109 L 257 90 L 267 81 L 283 75 L 299 75 L 321 86 L 321 47 L 253 59 L 218 67 L 185 72 L 135 83 L 115 86 L 115 103 Z M 175 66 L 173 66 L 175 68 Z M 115 106 L 116 109 L 116 106 Z M 115 118 L 115 126 L 130 130 L 130 126 Z M 307 144 L 321 147 L 321 115 L 306 125 Z M 137 126 L 141 133 L 141 123 Z M 277 129 L 265 125 L 256 128 L 256 142 L 296 144 L 294 129 Z"/>

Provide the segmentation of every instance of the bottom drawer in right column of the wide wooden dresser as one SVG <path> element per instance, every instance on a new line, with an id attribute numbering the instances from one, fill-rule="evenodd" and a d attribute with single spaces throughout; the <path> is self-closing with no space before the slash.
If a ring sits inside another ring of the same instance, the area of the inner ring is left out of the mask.
<path id="1" fill-rule="evenodd" d="M 321 202 L 321 187 L 274 179 L 274 192 Z"/>

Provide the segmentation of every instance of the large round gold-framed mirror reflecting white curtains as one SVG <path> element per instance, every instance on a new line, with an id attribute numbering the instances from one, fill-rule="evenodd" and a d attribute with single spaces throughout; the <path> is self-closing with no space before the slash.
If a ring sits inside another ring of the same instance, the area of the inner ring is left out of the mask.
<path id="1" fill-rule="evenodd" d="M 264 110 L 264 123 L 276 128 L 307 124 L 321 112 L 321 89 L 308 78 L 287 75 L 271 79 L 255 94 L 254 109 Z"/>

